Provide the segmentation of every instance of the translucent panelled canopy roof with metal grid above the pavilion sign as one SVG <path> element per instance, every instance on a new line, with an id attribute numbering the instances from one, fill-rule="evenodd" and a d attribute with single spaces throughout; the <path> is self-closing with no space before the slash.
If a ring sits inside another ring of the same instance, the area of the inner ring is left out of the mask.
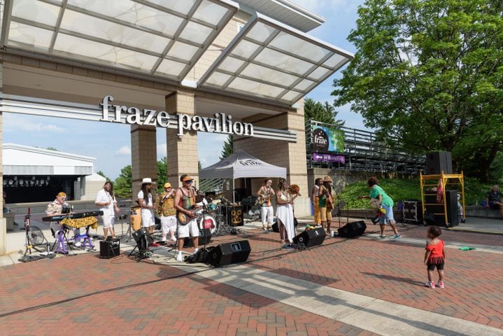
<path id="1" fill-rule="evenodd" d="M 237 10 L 231 0 L 6 0 L 0 47 L 180 84 Z M 197 85 L 291 105 L 352 57 L 257 13 Z"/>

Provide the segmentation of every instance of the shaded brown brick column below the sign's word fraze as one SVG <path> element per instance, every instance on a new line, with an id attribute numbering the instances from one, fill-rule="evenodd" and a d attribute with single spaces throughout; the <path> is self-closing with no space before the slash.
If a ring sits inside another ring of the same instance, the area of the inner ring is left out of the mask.
<path id="1" fill-rule="evenodd" d="M 155 127 L 131 126 L 131 169 L 132 200 L 136 205 L 136 196 L 141 190 L 141 180 L 150 177 L 157 183 L 157 139 Z M 157 186 L 154 186 L 157 188 Z"/>

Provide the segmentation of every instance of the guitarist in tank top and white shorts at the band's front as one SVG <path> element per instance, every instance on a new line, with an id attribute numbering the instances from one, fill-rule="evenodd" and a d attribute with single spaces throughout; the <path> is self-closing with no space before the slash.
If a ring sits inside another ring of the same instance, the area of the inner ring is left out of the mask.
<path id="1" fill-rule="evenodd" d="M 178 254 L 176 261 L 183 261 L 182 248 L 185 237 L 192 237 L 194 244 L 194 253 L 198 251 L 199 246 L 199 228 L 197 227 L 197 218 L 194 209 L 196 205 L 196 190 L 192 187 L 194 179 L 183 174 L 180 176 L 182 186 L 176 190 L 175 207 L 178 218 Z"/>

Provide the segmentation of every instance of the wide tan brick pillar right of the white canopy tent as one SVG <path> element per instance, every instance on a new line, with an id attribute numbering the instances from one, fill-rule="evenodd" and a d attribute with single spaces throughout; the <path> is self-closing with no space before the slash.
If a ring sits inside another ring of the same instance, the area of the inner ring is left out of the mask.
<path id="1" fill-rule="evenodd" d="M 310 191 L 307 183 L 306 134 L 304 130 L 304 101 L 299 102 L 298 109 L 289 109 L 276 116 L 258 115 L 243 119 L 243 122 L 255 126 L 289 130 L 297 133 L 297 142 L 269 140 L 259 138 L 234 137 L 234 151 L 241 149 L 271 165 L 286 167 L 287 181 L 297 184 L 301 197 L 295 201 L 295 216 L 311 215 Z M 263 179 L 252 181 L 252 189 L 258 190 Z M 276 180 L 273 181 L 277 189 Z"/>

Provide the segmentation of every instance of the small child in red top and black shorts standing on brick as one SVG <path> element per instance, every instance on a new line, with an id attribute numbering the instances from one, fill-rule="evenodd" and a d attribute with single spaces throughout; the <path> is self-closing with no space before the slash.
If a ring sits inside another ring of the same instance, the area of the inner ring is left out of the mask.
<path id="1" fill-rule="evenodd" d="M 438 226 L 430 226 L 428 228 L 426 241 L 425 264 L 428 269 L 428 281 L 426 286 L 430 288 L 444 288 L 444 264 L 446 262 L 446 251 L 444 249 L 444 241 L 439 239 L 442 231 Z M 433 281 L 433 272 L 437 267 L 439 272 L 439 281 L 437 284 Z"/>

